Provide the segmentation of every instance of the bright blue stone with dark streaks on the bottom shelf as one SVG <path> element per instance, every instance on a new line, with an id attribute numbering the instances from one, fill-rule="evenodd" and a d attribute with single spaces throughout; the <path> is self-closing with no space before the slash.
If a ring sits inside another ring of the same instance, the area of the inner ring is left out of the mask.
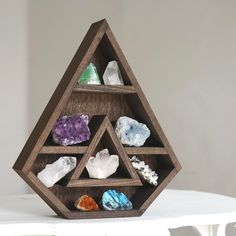
<path id="1" fill-rule="evenodd" d="M 133 208 L 132 202 L 124 193 L 117 190 L 110 189 L 103 193 L 101 205 L 104 210 L 131 210 Z"/>

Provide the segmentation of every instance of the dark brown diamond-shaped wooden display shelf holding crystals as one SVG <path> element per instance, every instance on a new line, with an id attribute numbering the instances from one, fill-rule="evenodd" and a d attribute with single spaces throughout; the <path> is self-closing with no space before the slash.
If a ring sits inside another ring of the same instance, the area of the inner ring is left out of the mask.
<path id="1" fill-rule="evenodd" d="M 112 60 L 117 61 L 125 85 L 77 84 L 90 62 L 96 65 L 102 78 Z M 56 120 L 75 113 L 91 118 L 91 139 L 79 145 L 56 145 L 50 134 Z M 142 147 L 120 143 L 113 128 L 120 116 L 132 117 L 149 127 L 151 136 Z M 103 148 L 119 155 L 120 166 L 105 180 L 90 179 L 84 167 L 88 158 Z M 38 172 L 65 154 L 76 156 L 77 167 L 47 188 L 37 178 Z M 140 180 L 129 161 L 133 155 L 158 173 L 156 187 Z M 140 216 L 181 169 L 106 20 L 91 25 L 13 168 L 58 215 L 68 219 Z M 81 195 L 88 194 L 99 202 L 102 193 L 111 188 L 125 193 L 133 209 L 94 212 L 75 209 L 74 202 Z"/>

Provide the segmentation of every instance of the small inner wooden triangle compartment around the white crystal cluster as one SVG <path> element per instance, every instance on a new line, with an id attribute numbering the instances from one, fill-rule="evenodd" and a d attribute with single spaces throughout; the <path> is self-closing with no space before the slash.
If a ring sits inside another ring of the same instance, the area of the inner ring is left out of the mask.
<path id="1" fill-rule="evenodd" d="M 91 143 L 80 161 L 80 165 L 75 169 L 67 187 L 78 186 L 141 186 L 142 183 L 138 174 L 121 145 L 113 127 L 107 116 L 101 116 L 103 121 L 94 134 Z M 89 178 L 86 164 L 91 156 L 95 156 L 98 151 L 107 148 L 110 154 L 119 156 L 119 167 L 116 172 L 105 180 Z M 123 180 L 123 181 L 122 181 Z"/>

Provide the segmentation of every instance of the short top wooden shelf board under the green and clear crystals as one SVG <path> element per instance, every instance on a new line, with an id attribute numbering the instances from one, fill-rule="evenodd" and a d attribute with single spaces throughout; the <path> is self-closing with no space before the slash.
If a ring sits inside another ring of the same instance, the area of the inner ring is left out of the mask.
<path id="1" fill-rule="evenodd" d="M 88 92 L 88 93 L 118 93 L 129 94 L 136 93 L 131 85 L 76 85 L 73 92 Z"/>

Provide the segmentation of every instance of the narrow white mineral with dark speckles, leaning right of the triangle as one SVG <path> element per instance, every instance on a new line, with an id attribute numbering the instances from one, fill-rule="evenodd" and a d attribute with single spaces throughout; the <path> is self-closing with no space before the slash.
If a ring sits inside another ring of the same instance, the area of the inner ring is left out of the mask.
<path id="1" fill-rule="evenodd" d="M 157 173 L 153 171 L 144 161 L 140 161 L 136 156 L 130 159 L 134 169 L 137 170 L 140 176 L 143 177 L 149 184 L 157 186 Z"/>

